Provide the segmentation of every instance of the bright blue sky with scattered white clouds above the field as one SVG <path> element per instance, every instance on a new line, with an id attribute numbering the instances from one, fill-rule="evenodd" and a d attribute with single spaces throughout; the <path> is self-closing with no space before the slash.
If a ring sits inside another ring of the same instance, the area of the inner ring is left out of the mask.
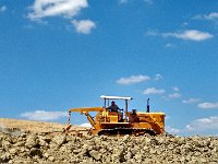
<path id="1" fill-rule="evenodd" d="M 102 94 L 149 97 L 167 131 L 218 134 L 218 1 L 1 0 L 0 22 L 0 117 L 65 122 Z"/>

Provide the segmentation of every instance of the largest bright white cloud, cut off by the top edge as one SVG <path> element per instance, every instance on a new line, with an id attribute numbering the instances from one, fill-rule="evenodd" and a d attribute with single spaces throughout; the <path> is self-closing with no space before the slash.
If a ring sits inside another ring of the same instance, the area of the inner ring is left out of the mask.
<path id="1" fill-rule="evenodd" d="M 27 16 L 33 21 L 58 15 L 72 17 L 87 7 L 87 0 L 35 0 Z"/>

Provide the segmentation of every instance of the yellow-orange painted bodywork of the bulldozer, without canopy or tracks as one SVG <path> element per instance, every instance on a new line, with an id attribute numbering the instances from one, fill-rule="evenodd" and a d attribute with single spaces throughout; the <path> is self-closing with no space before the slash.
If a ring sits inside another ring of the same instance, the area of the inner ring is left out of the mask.
<path id="1" fill-rule="evenodd" d="M 126 113 L 128 121 L 124 122 L 121 113 L 109 112 L 102 107 L 82 107 L 82 108 L 72 108 L 69 113 L 80 112 L 83 115 L 86 115 L 88 121 L 93 126 L 90 134 L 97 134 L 104 129 L 113 129 L 113 128 L 129 128 L 129 129 L 138 129 L 136 130 L 136 136 L 142 133 L 143 129 L 152 129 L 157 134 L 165 132 L 165 113 L 136 113 L 136 116 L 133 116 L 131 112 Z M 92 118 L 88 114 L 89 112 L 96 112 L 97 115 Z M 124 114 L 123 114 L 124 115 Z M 70 115 L 69 115 L 70 116 Z M 137 117 L 137 121 L 133 117 Z"/>

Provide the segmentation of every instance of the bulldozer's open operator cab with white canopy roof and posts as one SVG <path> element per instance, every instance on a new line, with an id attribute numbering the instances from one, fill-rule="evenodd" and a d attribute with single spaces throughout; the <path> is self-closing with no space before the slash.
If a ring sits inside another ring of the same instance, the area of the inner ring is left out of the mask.
<path id="1" fill-rule="evenodd" d="M 105 109 L 109 109 L 110 103 L 113 101 L 117 101 L 117 99 L 124 101 L 124 109 L 118 108 L 117 112 L 109 110 L 109 115 L 110 115 L 110 121 L 112 121 L 112 122 L 119 122 L 119 121 L 126 122 L 128 121 L 128 107 L 129 107 L 128 104 L 129 104 L 129 101 L 133 99 L 132 97 L 101 95 L 100 98 L 104 99 L 104 108 Z"/>

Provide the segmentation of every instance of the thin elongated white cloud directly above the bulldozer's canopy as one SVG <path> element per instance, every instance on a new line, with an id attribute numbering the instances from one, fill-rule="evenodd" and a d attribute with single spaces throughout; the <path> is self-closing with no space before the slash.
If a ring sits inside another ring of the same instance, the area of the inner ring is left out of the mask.
<path id="1" fill-rule="evenodd" d="M 122 85 L 130 85 L 130 84 L 141 83 L 148 80 L 150 80 L 148 75 L 140 74 L 140 75 L 131 75 L 128 78 L 121 78 L 117 80 L 117 83 L 122 84 Z"/>

